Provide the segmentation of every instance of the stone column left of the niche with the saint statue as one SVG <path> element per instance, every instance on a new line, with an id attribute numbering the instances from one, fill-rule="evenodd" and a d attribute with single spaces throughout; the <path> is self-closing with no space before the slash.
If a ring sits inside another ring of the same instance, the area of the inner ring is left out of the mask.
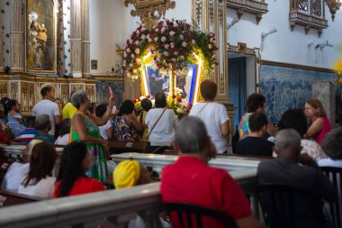
<path id="1" fill-rule="evenodd" d="M 23 72 L 23 4 L 22 0 L 10 1 L 10 67 L 12 72 Z M 2 45 L 2 43 L 1 43 Z"/>

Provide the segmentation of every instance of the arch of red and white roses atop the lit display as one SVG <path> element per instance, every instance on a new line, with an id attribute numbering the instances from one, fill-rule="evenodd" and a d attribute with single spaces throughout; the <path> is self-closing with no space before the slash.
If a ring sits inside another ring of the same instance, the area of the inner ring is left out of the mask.
<path id="1" fill-rule="evenodd" d="M 195 29 L 178 20 L 160 21 L 148 29 L 144 24 L 132 32 L 123 51 L 123 69 L 127 77 L 138 79 L 143 70 L 144 57 L 152 54 L 161 74 L 173 72 L 184 76 L 186 66 L 194 62 L 195 55 L 202 59 L 204 73 L 215 66 L 215 36 Z"/>

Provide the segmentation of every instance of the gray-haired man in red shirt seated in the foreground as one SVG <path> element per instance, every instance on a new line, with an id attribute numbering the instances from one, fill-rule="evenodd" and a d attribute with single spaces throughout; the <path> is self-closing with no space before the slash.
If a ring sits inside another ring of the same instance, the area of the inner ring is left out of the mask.
<path id="1" fill-rule="evenodd" d="M 160 192 L 164 203 L 199 205 L 229 214 L 239 228 L 261 227 L 235 180 L 226 170 L 208 166 L 216 150 L 199 118 L 186 117 L 177 124 L 173 145 L 180 156 L 163 169 Z M 223 226 L 208 218 L 203 227 Z"/>

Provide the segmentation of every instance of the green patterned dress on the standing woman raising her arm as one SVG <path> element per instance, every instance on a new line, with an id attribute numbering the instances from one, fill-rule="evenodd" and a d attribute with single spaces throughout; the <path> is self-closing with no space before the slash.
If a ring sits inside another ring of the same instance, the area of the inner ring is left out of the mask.
<path id="1" fill-rule="evenodd" d="M 87 135 L 93 136 L 94 138 L 101 139 L 100 130 L 98 127 L 91 123 L 82 112 L 76 111 L 76 114 L 82 116 L 85 122 L 85 132 Z M 71 126 L 70 139 L 69 141 L 79 141 L 79 134 Z M 93 166 L 86 171 L 86 176 L 89 178 L 96 178 L 100 181 L 105 181 L 108 176 L 107 163 L 104 155 L 103 145 L 101 143 L 89 143 L 86 142 L 86 147 L 91 153 L 93 159 Z"/>

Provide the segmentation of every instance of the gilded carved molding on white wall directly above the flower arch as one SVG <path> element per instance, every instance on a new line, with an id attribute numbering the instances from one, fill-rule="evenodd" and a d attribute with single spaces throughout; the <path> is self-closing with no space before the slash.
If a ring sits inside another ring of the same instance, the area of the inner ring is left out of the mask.
<path id="1" fill-rule="evenodd" d="M 124 4 L 126 7 L 130 4 L 134 5 L 135 10 L 131 10 L 130 14 L 139 16 L 142 23 L 147 22 L 149 16 L 159 20 L 165 16 L 166 10 L 175 8 L 175 1 L 172 0 L 125 0 Z"/>

